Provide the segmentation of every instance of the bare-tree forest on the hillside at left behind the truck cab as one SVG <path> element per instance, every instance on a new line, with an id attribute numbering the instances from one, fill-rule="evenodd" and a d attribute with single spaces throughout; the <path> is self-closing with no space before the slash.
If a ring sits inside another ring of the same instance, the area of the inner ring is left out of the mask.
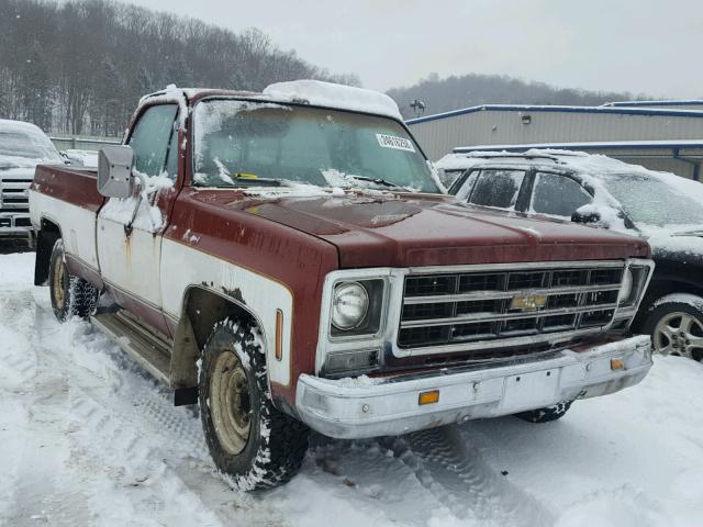
<path id="1" fill-rule="evenodd" d="M 0 117 L 47 133 L 119 137 L 140 98 L 170 83 L 259 91 L 313 78 L 359 85 L 256 29 L 110 0 L 0 0 Z"/>

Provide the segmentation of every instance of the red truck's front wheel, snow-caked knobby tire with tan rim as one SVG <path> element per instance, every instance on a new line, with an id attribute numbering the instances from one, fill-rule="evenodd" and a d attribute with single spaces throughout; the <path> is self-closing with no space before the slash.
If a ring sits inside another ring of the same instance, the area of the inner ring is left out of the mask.
<path id="1" fill-rule="evenodd" d="M 221 321 L 200 365 L 205 442 L 219 471 L 242 491 L 287 483 L 308 450 L 308 427 L 274 406 L 260 343 L 255 326 Z"/>

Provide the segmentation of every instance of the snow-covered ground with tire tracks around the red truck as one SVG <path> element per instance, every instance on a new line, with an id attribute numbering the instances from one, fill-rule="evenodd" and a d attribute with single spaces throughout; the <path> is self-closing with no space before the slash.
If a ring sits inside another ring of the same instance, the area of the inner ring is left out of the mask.
<path id="1" fill-rule="evenodd" d="M 59 325 L 34 255 L 0 255 L 2 526 L 703 525 L 703 366 L 560 422 L 513 417 L 368 441 L 313 439 L 287 486 L 231 491 L 196 411 L 90 326 Z"/>

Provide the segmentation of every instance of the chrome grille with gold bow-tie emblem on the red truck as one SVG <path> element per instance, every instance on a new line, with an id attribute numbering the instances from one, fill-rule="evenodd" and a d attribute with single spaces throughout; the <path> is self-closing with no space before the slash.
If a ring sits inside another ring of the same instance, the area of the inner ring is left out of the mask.
<path id="1" fill-rule="evenodd" d="M 398 346 L 494 347 L 513 337 L 598 332 L 612 322 L 624 262 L 529 267 L 408 276 Z"/>

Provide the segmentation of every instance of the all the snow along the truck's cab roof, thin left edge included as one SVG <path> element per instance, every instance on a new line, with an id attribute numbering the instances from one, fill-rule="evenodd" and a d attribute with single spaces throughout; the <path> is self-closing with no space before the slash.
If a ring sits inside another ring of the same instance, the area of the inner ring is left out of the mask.
<path id="1" fill-rule="evenodd" d="M 166 90 L 145 96 L 140 104 L 153 102 L 155 98 L 185 94 L 188 99 L 198 99 L 210 94 L 244 97 L 260 99 L 268 102 L 287 102 L 310 104 L 313 106 L 333 108 L 354 112 L 383 115 L 402 122 L 398 104 L 390 97 L 373 90 L 355 88 L 352 86 L 334 85 L 321 80 L 293 80 L 276 82 L 267 86 L 264 91 L 213 90 L 207 88 L 177 88 L 170 85 Z"/>

